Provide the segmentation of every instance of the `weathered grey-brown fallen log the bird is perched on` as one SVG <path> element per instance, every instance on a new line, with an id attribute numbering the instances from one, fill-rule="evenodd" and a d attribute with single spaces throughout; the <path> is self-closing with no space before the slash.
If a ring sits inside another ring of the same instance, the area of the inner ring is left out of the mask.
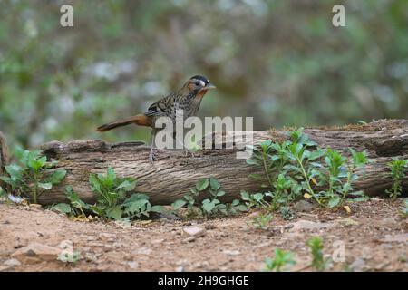
<path id="1" fill-rule="evenodd" d="M 343 128 L 310 128 L 305 133 L 323 148 L 344 152 L 348 152 L 348 148 L 366 150 L 372 162 L 360 173 L 355 189 L 362 189 L 371 196 L 384 194 L 384 189 L 392 185 L 386 175 L 386 163 L 393 157 L 408 158 L 408 121 L 405 120 L 380 120 Z M 287 131 L 254 131 L 253 138 L 255 144 L 268 139 L 286 140 Z M 89 174 L 106 172 L 109 166 L 119 176 L 137 178 L 136 190 L 148 194 L 154 204 L 169 204 L 188 192 L 198 179 L 211 176 L 219 179 L 228 199 L 237 198 L 241 189 L 259 190 L 259 182 L 248 178 L 256 169 L 245 160 L 236 159 L 237 148 L 202 150 L 198 157 L 185 156 L 180 151 L 158 150 L 153 165 L 148 160 L 149 147 L 141 142 L 52 141 L 44 144 L 42 150 L 47 157 L 59 161 L 59 168 L 67 170 L 63 184 L 40 198 L 43 204 L 64 201 L 66 184 L 81 198 L 93 202 Z M 403 189 L 407 191 L 408 179 L 403 180 Z"/>

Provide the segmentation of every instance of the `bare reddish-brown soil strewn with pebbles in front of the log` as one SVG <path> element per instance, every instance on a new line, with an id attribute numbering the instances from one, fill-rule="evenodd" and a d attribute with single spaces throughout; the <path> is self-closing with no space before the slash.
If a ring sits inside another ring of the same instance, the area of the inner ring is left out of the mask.
<path id="1" fill-rule="evenodd" d="M 134 222 L 74 221 L 48 209 L 0 204 L 0 270 L 2 271 L 260 271 L 275 248 L 296 255 L 293 270 L 311 271 L 309 237 L 322 237 L 331 256 L 335 241 L 345 245 L 345 263 L 330 271 L 407 271 L 408 219 L 398 214 L 402 200 L 373 198 L 343 209 L 315 208 L 284 220 L 276 215 L 267 230 L 248 222 L 251 212 L 233 218 L 178 221 L 166 218 Z M 203 227 L 202 237 L 189 237 L 186 227 Z M 10 262 L 29 243 L 58 247 L 73 242 L 80 260 Z M 8 261 L 8 262 L 7 262 Z M 20 263 L 19 263 L 20 262 Z M 19 265 L 20 264 L 20 265 Z"/>

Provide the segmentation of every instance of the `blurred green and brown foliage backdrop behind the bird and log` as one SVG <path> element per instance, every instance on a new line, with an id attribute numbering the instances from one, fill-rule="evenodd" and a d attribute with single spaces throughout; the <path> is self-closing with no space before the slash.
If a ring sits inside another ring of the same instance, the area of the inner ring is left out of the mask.
<path id="1" fill-rule="evenodd" d="M 72 28 L 60 7 L 73 5 Z M 345 5 L 346 26 L 332 25 Z M 408 118 L 408 1 L 0 0 L 0 131 L 10 145 L 148 140 L 95 127 L 194 74 L 199 116 L 271 126 Z"/>

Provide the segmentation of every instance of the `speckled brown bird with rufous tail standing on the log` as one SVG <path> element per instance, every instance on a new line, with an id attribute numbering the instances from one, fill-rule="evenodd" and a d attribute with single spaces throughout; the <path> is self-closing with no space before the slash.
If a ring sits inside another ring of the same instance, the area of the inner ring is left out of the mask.
<path id="1" fill-rule="evenodd" d="M 179 90 L 171 92 L 166 97 L 152 103 L 146 112 L 119 121 L 103 124 L 96 130 L 100 132 L 110 131 L 130 124 L 151 127 L 151 151 L 149 153 L 149 160 L 152 164 L 153 160 L 155 160 L 154 138 L 157 131 L 159 131 L 159 129 L 155 127 L 156 120 L 160 117 L 169 117 L 171 121 L 175 122 L 177 110 L 183 110 L 184 119 L 196 116 L 202 98 L 209 90 L 213 89 L 216 89 L 216 86 L 209 82 L 209 79 L 202 75 L 195 75 L 189 78 L 189 81 L 185 82 Z"/>

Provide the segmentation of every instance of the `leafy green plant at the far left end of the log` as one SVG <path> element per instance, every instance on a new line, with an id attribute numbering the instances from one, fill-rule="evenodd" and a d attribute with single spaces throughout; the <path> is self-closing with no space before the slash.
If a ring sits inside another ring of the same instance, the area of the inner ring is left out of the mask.
<path id="1" fill-rule="evenodd" d="M 39 151 L 16 149 L 17 163 L 5 166 L 6 175 L 0 177 L 15 196 L 27 197 L 37 203 L 44 192 L 53 189 L 66 175 L 64 169 L 53 170 L 54 161 L 48 161 Z"/>

